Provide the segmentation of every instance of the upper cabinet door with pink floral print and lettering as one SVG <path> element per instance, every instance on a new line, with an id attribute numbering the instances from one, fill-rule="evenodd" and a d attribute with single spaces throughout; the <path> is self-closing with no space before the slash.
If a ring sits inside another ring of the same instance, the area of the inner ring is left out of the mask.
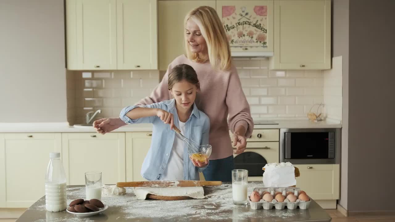
<path id="1" fill-rule="evenodd" d="M 273 0 L 217 0 L 216 10 L 233 56 L 273 52 Z"/>

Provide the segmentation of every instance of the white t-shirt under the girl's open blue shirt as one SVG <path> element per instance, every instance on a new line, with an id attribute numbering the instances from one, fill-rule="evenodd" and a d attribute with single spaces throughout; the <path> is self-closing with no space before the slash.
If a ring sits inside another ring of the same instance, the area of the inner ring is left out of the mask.
<path id="1" fill-rule="evenodd" d="M 181 134 L 184 135 L 185 122 L 178 120 Z M 184 179 L 184 147 L 185 142 L 181 136 L 175 133 L 173 147 L 171 148 L 169 162 L 163 172 L 161 180 L 183 180 Z"/>

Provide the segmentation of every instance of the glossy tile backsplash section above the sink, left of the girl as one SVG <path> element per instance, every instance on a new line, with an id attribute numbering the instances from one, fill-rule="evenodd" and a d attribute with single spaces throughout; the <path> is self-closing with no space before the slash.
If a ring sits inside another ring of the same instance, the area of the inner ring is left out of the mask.
<path id="1" fill-rule="evenodd" d="M 68 102 L 68 109 L 74 110 L 75 117 L 70 114 L 68 119 L 71 122 L 73 118 L 76 123 L 84 122 L 88 111 L 98 109 L 101 109 L 102 113 L 96 119 L 118 117 L 123 107 L 134 105 L 145 96 L 149 96 L 159 83 L 158 70 L 69 72 L 68 85 L 73 87 L 68 86 L 68 101 L 73 96 L 74 102 Z M 259 97 L 256 100 L 259 104 Z"/>

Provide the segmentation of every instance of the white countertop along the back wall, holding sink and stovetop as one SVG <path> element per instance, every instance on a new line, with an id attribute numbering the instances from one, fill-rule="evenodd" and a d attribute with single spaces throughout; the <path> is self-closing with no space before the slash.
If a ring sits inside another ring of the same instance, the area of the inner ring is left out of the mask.
<path id="1" fill-rule="evenodd" d="M 262 119 L 254 119 L 262 120 Z M 278 124 L 261 125 L 256 124 L 254 129 L 280 129 L 280 128 L 341 128 L 341 122 L 326 120 L 312 122 L 308 120 L 273 120 Z M 126 125 L 113 132 L 149 132 L 152 124 Z M 92 127 L 77 128 L 69 126 L 67 122 L 29 122 L 29 123 L 7 123 L 0 122 L 0 133 L 74 133 L 74 132 L 96 132 Z"/>

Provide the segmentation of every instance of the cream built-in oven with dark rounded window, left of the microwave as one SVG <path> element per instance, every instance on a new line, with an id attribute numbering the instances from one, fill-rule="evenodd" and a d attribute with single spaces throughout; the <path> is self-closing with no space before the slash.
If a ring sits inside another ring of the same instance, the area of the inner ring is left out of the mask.
<path id="1" fill-rule="evenodd" d="M 279 129 L 254 129 L 246 150 L 233 156 L 235 169 L 248 170 L 248 181 L 262 181 L 262 167 L 279 160 Z"/>

